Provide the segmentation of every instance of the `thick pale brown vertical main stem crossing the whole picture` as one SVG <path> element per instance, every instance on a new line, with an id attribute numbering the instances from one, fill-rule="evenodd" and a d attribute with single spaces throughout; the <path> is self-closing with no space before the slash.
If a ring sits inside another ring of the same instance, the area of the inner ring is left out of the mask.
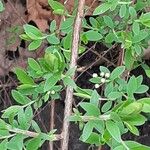
<path id="1" fill-rule="evenodd" d="M 74 23 L 74 32 L 73 32 L 73 40 L 72 40 L 72 49 L 71 49 L 71 62 L 70 68 L 74 68 L 77 65 L 77 58 L 78 58 L 78 49 L 79 49 L 79 42 L 80 42 L 80 30 L 82 24 L 82 18 L 84 15 L 84 4 L 85 0 L 79 0 L 78 2 L 78 11 Z M 74 79 L 75 75 L 72 76 Z M 65 99 L 65 110 L 64 110 L 64 121 L 63 121 L 63 130 L 62 130 L 62 150 L 68 150 L 68 142 L 69 142 L 69 126 L 70 123 L 68 122 L 67 118 L 72 113 L 72 103 L 73 103 L 73 88 L 67 87 L 66 90 L 66 99 Z"/>

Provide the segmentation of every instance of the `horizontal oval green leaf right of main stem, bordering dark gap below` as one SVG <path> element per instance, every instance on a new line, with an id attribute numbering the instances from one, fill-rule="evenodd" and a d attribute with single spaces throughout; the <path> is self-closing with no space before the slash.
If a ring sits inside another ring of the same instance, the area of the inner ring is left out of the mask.
<path id="1" fill-rule="evenodd" d="M 103 36 L 98 31 L 94 30 L 89 30 L 84 34 L 89 41 L 99 41 L 100 39 L 103 38 Z"/>

